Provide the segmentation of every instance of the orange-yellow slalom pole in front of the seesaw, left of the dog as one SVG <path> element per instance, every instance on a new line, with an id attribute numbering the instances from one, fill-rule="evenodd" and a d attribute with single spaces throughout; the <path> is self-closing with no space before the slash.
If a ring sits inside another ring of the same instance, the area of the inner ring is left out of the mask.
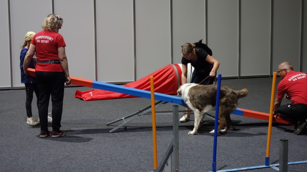
<path id="1" fill-rule="evenodd" d="M 157 163 L 156 110 L 154 102 L 153 77 L 150 77 L 150 95 L 151 95 L 151 118 L 153 125 L 153 169 L 154 171 L 156 171 L 158 169 L 158 163 Z"/>

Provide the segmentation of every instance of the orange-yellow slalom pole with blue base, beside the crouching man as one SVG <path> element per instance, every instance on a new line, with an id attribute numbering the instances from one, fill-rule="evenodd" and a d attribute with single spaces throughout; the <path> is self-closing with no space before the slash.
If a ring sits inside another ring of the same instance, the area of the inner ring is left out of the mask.
<path id="1" fill-rule="evenodd" d="M 270 164 L 270 144 L 271 144 L 271 132 L 272 132 L 272 121 L 273 121 L 273 108 L 275 98 L 275 84 L 276 84 L 276 72 L 273 73 L 272 93 L 271 93 L 271 105 L 270 105 L 270 117 L 269 117 L 269 128 L 268 128 L 268 139 L 266 143 L 266 166 Z"/>

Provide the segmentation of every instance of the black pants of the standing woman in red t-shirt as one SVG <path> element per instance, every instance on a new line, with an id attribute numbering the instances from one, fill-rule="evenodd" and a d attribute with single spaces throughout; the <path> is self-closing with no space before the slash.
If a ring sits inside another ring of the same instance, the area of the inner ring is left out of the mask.
<path id="1" fill-rule="evenodd" d="M 48 106 L 51 95 L 52 102 L 52 131 L 59 131 L 64 98 L 64 72 L 36 71 L 36 82 L 39 91 L 38 114 L 41 131 L 48 131 Z"/>

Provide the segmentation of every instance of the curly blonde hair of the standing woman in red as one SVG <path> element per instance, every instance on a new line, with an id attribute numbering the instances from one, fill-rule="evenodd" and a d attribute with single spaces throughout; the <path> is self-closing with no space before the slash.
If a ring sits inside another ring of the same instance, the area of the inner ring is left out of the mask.
<path id="1" fill-rule="evenodd" d="M 63 19 L 58 14 L 49 14 L 41 27 L 43 30 L 59 32 L 59 29 L 62 27 Z"/>

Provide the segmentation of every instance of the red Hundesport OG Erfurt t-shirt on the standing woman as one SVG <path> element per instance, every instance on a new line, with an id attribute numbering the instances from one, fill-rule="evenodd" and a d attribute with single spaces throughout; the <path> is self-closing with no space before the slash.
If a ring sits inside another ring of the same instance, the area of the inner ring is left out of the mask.
<path id="1" fill-rule="evenodd" d="M 33 36 L 37 61 L 59 60 L 58 48 L 65 47 L 63 36 L 53 31 L 41 31 Z M 63 72 L 62 66 L 55 63 L 37 63 L 36 71 Z"/>

